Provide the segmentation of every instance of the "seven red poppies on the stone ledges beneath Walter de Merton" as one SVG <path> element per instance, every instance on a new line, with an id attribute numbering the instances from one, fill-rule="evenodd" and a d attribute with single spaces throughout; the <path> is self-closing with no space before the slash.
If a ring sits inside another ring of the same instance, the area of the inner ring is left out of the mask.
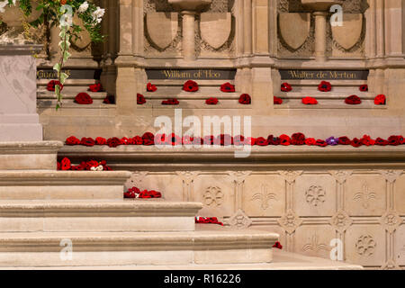
<path id="1" fill-rule="evenodd" d="M 321 92 L 329 92 L 330 90 L 332 90 L 332 85 L 328 81 L 322 81 L 320 82 L 320 85 L 318 85 L 318 90 L 320 90 Z M 361 92 L 367 92 L 368 85 L 360 85 L 359 90 Z M 281 91 L 283 92 L 293 91 L 293 86 L 285 82 L 281 85 Z M 283 103 L 283 99 L 274 96 L 274 103 L 275 105 L 280 105 Z M 318 104 L 318 100 L 314 97 L 303 97 L 302 103 L 306 105 L 316 105 Z M 349 105 L 358 105 L 362 103 L 362 100 L 357 95 L 350 95 L 345 99 L 345 103 Z M 374 98 L 374 104 L 376 105 L 385 105 L 385 103 L 386 97 L 384 94 L 379 94 Z"/>

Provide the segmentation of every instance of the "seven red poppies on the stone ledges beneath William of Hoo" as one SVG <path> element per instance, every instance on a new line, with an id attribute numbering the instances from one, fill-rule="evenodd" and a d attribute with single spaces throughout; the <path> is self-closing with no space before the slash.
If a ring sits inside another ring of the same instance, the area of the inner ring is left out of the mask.
<path id="1" fill-rule="evenodd" d="M 193 80 L 188 80 L 183 85 L 183 90 L 186 92 L 197 92 L 199 89 L 200 89 L 199 85 L 197 84 L 197 82 L 195 82 Z M 157 86 L 152 85 L 151 83 L 148 83 L 147 91 L 156 92 Z M 223 93 L 234 93 L 236 91 L 235 85 L 232 85 L 229 82 L 224 83 L 224 84 L 220 85 L 220 91 Z M 146 103 L 144 95 L 142 95 L 142 94 L 137 95 L 137 103 L 139 105 Z M 207 105 L 216 105 L 219 103 L 219 100 L 218 100 L 218 98 L 211 97 L 211 98 L 206 99 L 205 103 Z M 251 99 L 250 95 L 248 95 L 248 94 L 241 94 L 239 96 L 238 103 L 247 105 L 247 104 L 252 103 L 252 99 Z M 162 101 L 162 105 L 178 105 L 178 104 L 179 104 L 179 101 L 175 98 Z"/>

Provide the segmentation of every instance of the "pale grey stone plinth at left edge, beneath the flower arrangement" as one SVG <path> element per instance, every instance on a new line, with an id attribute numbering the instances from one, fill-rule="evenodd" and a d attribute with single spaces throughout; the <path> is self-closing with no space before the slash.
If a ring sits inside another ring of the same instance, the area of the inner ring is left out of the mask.
<path id="1" fill-rule="evenodd" d="M 0 44 L 0 141 L 42 139 L 32 57 L 39 49 L 40 45 Z"/>

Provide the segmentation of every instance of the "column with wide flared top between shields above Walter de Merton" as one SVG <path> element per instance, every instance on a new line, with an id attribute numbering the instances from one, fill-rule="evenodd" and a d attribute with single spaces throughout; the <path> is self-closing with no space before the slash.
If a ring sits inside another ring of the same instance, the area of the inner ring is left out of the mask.
<path id="1" fill-rule="evenodd" d="M 315 58 L 317 61 L 327 60 L 327 19 L 330 7 L 342 4 L 342 0 L 301 0 L 304 8 L 313 11 L 315 16 Z"/>

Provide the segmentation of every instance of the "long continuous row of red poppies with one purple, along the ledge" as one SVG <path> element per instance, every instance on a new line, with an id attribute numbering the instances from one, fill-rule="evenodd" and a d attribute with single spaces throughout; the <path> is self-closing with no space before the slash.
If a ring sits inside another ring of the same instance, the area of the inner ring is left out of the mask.
<path id="1" fill-rule="evenodd" d="M 294 133 L 291 137 L 288 135 L 280 135 L 276 137 L 274 135 L 269 135 L 265 137 L 244 137 L 242 135 L 238 135 L 232 137 L 228 134 L 221 134 L 217 137 L 214 136 L 205 136 L 203 138 L 200 137 L 191 137 L 191 136 L 184 136 L 180 137 L 172 133 L 171 135 L 166 134 L 157 134 L 156 136 L 151 133 L 147 132 L 143 136 L 135 136 L 133 138 L 110 138 L 104 139 L 101 137 L 97 137 L 96 139 L 92 138 L 82 138 L 77 139 L 75 136 L 71 136 L 66 139 L 66 144 L 70 146 L 74 145 L 82 145 L 87 147 L 93 147 L 94 145 L 107 145 L 110 148 L 116 148 L 121 145 L 143 145 L 143 146 L 153 146 L 153 145 L 167 145 L 167 146 L 179 146 L 179 145 L 220 145 L 220 146 L 269 146 L 269 145 L 283 145 L 283 146 L 290 146 L 290 145 L 307 145 L 307 146 L 319 146 L 319 147 L 326 147 L 326 146 L 336 146 L 336 145 L 351 145 L 353 147 L 360 147 L 360 146 L 398 146 L 405 144 L 405 140 L 402 136 L 392 135 L 388 139 L 377 138 L 372 139 L 368 135 L 364 135 L 362 138 L 354 138 L 349 139 L 347 136 L 342 137 L 329 137 L 328 139 L 315 139 L 315 138 L 307 138 L 302 133 Z"/>

